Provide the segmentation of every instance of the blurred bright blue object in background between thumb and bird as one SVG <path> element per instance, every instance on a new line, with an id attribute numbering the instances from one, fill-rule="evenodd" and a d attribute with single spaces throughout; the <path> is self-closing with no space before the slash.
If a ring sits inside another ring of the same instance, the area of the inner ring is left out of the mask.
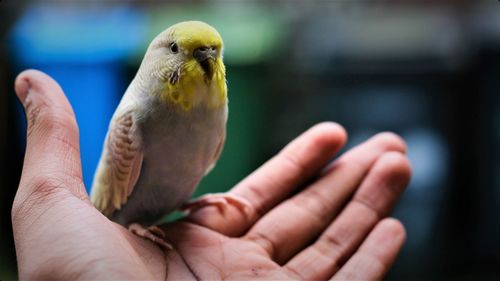
<path id="1" fill-rule="evenodd" d="M 126 88 L 123 63 L 142 46 L 145 19 L 142 11 L 127 7 L 37 5 L 27 9 L 11 30 L 16 68 L 46 72 L 73 106 L 87 192 L 109 120 Z"/>

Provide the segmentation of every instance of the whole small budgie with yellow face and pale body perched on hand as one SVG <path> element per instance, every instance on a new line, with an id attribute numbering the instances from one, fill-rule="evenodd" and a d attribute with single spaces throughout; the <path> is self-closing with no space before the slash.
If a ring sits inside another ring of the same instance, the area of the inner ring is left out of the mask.
<path id="1" fill-rule="evenodd" d="M 248 206 L 224 194 L 186 205 L 225 141 L 222 51 L 221 36 L 203 22 L 181 22 L 160 33 L 113 115 L 94 176 L 94 206 L 165 247 L 163 231 L 153 224 L 177 208 Z"/>

